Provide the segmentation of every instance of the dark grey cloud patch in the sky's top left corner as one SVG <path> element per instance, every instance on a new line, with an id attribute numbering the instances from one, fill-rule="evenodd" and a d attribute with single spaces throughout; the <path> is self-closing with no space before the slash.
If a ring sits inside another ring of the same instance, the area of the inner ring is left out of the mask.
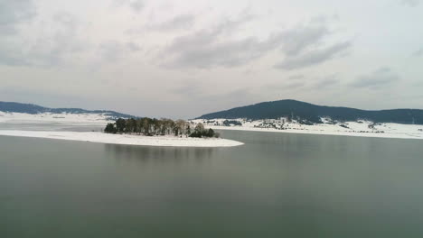
<path id="1" fill-rule="evenodd" d="M 17 24 L 33 19 L 35 14 L 32 0 L 0 1 L 0 33 L 16 33 Z"/>

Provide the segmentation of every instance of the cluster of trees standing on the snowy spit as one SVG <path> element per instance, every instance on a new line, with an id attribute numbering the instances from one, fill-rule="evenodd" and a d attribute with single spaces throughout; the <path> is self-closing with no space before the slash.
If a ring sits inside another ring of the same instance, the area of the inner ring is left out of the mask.
<path id="1" fill-rule="evenodd" d="M 106 125 L 105 133 L 136 133 L 147 136 L 174 134 L 175 136 L 189 137 L 219 137 L 212 129 L 206 130 L 202 124 L 192 124 L 183 120 L 173 121 L 171 119 L 155 118 L 118 118 L 114 124 Z"/>

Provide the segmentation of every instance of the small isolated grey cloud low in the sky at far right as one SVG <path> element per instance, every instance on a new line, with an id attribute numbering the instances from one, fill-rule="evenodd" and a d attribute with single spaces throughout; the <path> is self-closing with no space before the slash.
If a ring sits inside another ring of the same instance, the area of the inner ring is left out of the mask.
<path id="1" fill-rule="evenodd" d="M 390 68 L 381 68 L 375 70 L 371 74 L 360 76 L 351 84 L 351 86 L 380 88 L 383 86 L 388 86 L 399 80 L 400 77 Z"/>

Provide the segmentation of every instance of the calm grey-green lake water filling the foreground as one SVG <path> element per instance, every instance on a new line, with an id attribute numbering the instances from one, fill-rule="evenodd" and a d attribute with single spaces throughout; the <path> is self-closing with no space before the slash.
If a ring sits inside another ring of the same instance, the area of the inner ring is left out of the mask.
<path id="1" fill-rule="evenodd" d="M 0 237 L 423 237 L 423 141 L 222 134 L 245 145 L 0 136 Z"/>

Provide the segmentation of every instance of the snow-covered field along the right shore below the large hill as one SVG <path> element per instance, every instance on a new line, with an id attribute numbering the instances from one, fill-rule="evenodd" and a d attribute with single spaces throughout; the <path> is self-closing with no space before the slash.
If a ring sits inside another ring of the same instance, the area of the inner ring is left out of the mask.
<path id="1" fill-rule="evenodd" d="M 239 130 L 272 133 L 311 133 L 333 134 L 362 137 L 400 138 L 400 139 L 423 139 L 423 125 L 419 124 L 373 124 L 369 121 L 359 122 L 332 122 L 323 118 L 324 124 L 298 124 L 280 123 L 270 124 L 264 120 L 250 121 L 245 119 L 230 119 L 242 125 L 222 125 L 226 119 L 192 120 L 193 124 L 202 123 L 218 130 Z"/>

